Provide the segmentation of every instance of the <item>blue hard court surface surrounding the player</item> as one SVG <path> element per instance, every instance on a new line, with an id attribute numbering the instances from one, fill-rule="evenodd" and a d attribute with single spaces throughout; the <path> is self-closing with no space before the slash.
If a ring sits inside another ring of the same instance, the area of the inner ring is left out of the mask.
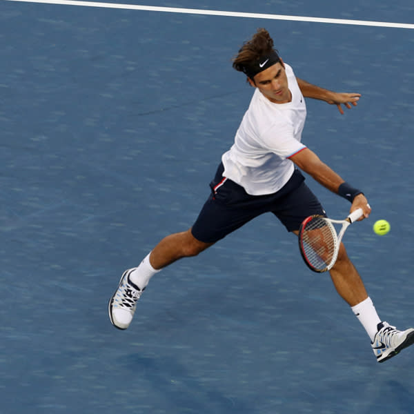
<path id="1" fill-rule="evenodd" d="M 407 0 L 263 3 L 151 5 L 414 21 Z M 365 190 L 348 253 L 380 316 L 414 324 L 413 30 L 1 1 L 1 413 L 412 413 L 414 349 L 377 364 L 273 215 L 163 270 L 130 329 L 110 325 L 124 269 L 197 217 L 252 93 L 230 59 L 261 26 L 297 76 L 362 93 L 344 116 L 308 101 L 303 140 Z"/>

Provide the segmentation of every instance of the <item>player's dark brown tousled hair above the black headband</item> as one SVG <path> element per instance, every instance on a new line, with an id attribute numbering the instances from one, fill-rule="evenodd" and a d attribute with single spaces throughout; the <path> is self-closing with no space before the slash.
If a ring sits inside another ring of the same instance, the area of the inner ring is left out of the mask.
<path id="1" fill-rule="evenodd" d="M 252 39 L 243 43 L 237 56 L 233 58 L 233 68 L 244 72 L 248 63 L 257 61 L 263 55 L 268 55 L 273 49 L 273 39 L 269 32 L 264 28 L 257 29 Z"/>

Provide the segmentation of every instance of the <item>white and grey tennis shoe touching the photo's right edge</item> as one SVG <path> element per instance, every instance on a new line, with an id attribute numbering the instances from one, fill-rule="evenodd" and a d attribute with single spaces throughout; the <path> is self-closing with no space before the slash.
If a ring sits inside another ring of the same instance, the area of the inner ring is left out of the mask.
<path id="1" fill-rule="evenodd" d="M 395 326 L 391 326 L 387 322 L 381 322 L 377 328 L 378 332 L 375 334 L 371 346 L 378 362 L 384 362 L 397 355 L 407 346 L 414 344 L 413 328 L 398 331 Z"/>

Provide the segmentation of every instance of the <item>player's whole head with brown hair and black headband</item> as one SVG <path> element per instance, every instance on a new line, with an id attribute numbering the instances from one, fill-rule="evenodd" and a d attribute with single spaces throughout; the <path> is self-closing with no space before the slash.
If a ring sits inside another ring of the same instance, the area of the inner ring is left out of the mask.
<path id="1" fill-rule="evenodd" d="M 233 68 L 244 72 L 250 85 L 259 88 L 270 101 L 290 101 L 284 63 L 273 48 L 273 39 L 266 29 L 258 29 L 252 39 L 243 44 L 233 59 Z"/>

